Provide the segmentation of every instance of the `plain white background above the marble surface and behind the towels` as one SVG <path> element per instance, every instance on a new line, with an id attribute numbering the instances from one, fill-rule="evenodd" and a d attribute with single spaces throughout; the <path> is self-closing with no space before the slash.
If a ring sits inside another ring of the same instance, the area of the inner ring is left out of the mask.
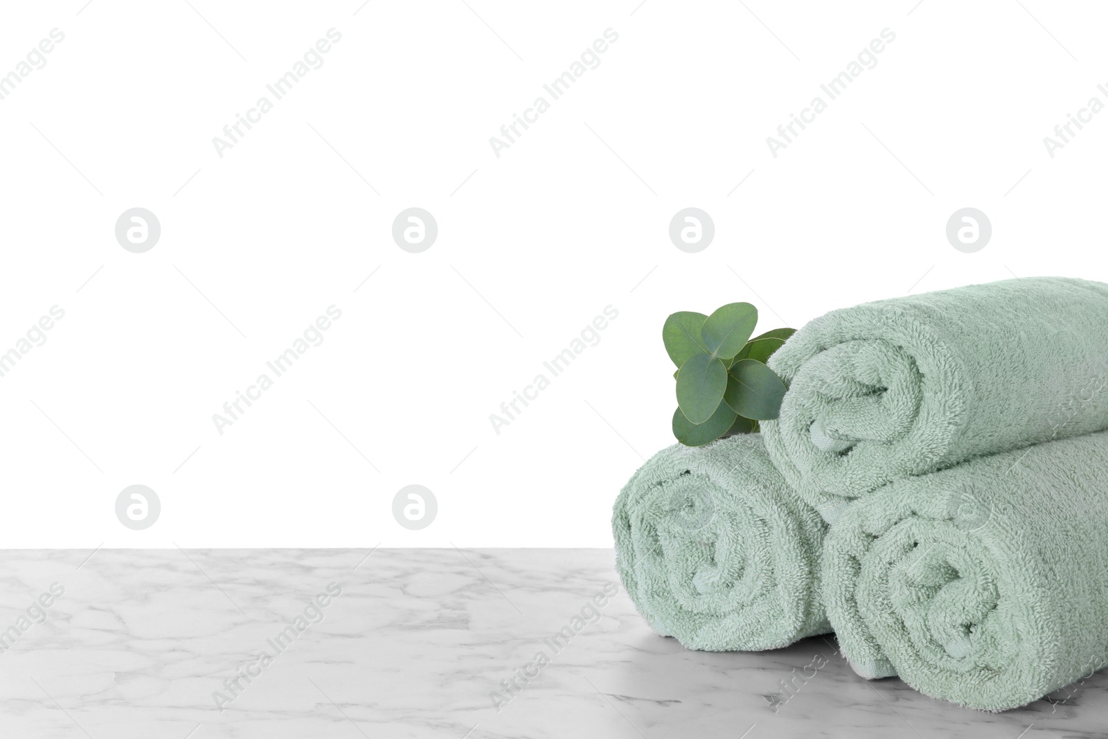
<path id="1" fill-rule="evenodd" d="M 1108 103 L 1095 3 L 466 1 L 6 7 L 0 74 L 65 39 L 0 100 L 0 351 L 65 317 L 0 378 L 0 545 L 609 546 L 619 487 L 673 443 L 669 312 L 747 300 L 761 331 L 1108 277 L 1108 112 L 1043 143 Z M 330 28 L 324 65 L 217 156 Z M 497 158 L 490 136 L 608 28 Z M 878 65 L 771 156 L 885 28 Z M 162 225 L 145 254 L 114 237 L 135 206 Z M 439 225 L 422 254 L 391 238 L 411 206 Z M 716 225 L 698 254 L 667 233 L 688 206 Z M 944 234 L 965 206 L 993 224 L 975 254 Z M 324 343 L 217 433 L 330 305 Z M 601 342 L 494 433 L 608 305 Z M 141 532 L 114 515 L 135 483 L 162 501 Z M 412 483 L 439 502 L 422 531 L 391 514 Z"/>

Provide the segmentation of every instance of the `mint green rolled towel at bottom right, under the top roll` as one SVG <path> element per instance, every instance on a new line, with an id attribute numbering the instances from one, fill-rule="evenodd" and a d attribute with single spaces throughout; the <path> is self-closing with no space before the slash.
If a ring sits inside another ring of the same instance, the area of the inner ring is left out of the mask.
<path id="1" fill-rule="evenodd" d="M 985 710 L 1108 665 L 1108 432 L 979 458 L 850 505 L 823 551 L 866 678 Z"/>

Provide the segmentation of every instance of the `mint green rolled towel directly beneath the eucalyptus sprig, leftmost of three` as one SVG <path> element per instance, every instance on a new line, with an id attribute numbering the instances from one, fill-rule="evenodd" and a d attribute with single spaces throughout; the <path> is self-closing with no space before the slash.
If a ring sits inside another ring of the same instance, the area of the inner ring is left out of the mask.
<path id="1" fill-rule="evenodd" d="M 827 524 L 759 434 L 661 450 L 619 493 L 612 530 L 638 612 L 690 649 L 772 649 L 831 630 L 819 595 Z"/>

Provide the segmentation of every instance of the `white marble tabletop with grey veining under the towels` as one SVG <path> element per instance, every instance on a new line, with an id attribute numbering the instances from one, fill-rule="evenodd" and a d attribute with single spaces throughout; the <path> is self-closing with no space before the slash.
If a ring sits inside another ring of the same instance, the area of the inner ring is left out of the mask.
<path id="1" fill-rule="evenodd" d="M 0 737 L 1108 736 L 1104 673 L 983 714 L 858 678 L 832 637 L 686 650 L 622 589 L 554 654 L 543 639 L 618 582 L 611 550 L 378 550 L 359 565 L 367 553 L 0 551 L 0 630 L 64 587 L 0 654 Z M 277 654 L 267 639 L 330 583 L 342 594 Z M 263 650 L 271 664 L 220 712 L 213 692 L 229 697 L 224 678 Z M 550 664 L 497 711 L 490 692 L 538 650 Z M 824 661 L 781 702 L 779 680 Z"/>

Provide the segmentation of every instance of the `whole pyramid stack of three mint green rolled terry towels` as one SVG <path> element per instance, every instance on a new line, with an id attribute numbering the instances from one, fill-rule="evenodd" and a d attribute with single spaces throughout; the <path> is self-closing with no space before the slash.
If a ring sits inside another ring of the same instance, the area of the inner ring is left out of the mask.
<path id="1" fill-rule="evenodd" d="M 763 438 L 664 450 L 616 501 L 656 630 L 766 649 L 830 619 L 863 677 L 986 710 L 1108 665 L 1108 285 L 835 310 L 769 365 Z"/>

